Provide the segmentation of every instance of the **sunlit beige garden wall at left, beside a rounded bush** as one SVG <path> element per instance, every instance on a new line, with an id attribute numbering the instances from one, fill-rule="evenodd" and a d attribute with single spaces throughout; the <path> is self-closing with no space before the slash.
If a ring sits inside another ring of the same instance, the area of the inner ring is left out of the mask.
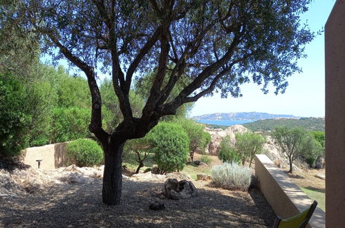
<path id="1" fill-rule="evenodd" d="M 22 161 L 37 168 L 36 160 L 42 160 L 40 169 L 44 170 L 66 167 L 66 144 L 67 142 L 62 142 L 27 148 L 22 152 Z"/>

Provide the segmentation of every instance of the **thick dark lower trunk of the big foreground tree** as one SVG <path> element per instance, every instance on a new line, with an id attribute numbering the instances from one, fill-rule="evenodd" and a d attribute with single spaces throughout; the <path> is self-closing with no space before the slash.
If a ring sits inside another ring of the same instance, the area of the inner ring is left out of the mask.
<path id="1" fill-rule="evenodd" d="M 102 201 L 106 205 L 121 204 L 123 146 L 124 142 L 104 146 Z"/>

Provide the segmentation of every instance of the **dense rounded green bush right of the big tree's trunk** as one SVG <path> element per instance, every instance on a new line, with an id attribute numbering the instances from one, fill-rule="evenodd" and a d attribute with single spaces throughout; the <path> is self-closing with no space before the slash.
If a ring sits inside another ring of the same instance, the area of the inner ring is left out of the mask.
<path id="1" fill-rule="evenodd" d="M 180 171 L 185 167 L 189 139 L 182 126 L 160 122 L 147 137 L 161 173 Z"/>

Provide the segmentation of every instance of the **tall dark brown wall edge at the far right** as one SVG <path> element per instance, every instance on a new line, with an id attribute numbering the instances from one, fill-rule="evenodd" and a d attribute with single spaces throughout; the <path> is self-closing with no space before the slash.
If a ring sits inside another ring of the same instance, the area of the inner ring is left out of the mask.
<path id="1" fill-rule="evenodd" d="M 337 0 L 325 26 L 326 224 L 345 226 L 345 1 Z"/>

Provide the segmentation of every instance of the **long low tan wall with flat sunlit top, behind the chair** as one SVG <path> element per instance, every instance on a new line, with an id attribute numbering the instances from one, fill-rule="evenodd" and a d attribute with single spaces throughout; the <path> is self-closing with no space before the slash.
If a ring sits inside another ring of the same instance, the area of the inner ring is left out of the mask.
<path id="1" fill-rule="evenodd" d="M 295 216 L 313 203 L 266 155 L 256 155 L 255 176 L 261 192 L 281 218 Z M 309 224 L 311 227 L 325 227 L 325 219 L 324 211 L 317 207 Z"/>

